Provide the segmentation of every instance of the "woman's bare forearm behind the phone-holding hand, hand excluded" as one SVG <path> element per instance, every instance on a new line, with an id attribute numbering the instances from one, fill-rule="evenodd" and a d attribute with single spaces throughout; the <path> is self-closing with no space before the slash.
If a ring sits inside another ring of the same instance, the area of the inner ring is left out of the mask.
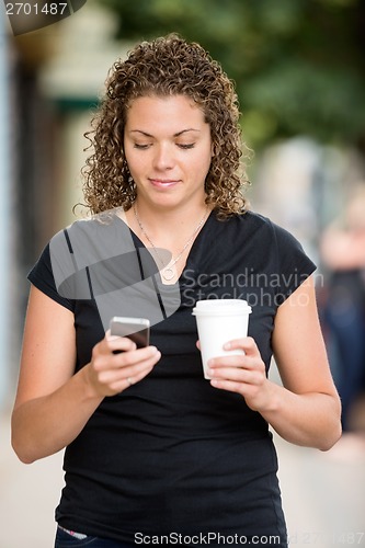
<path id="1" fill-rule="evenodd" d="M 12 414 L 12 445 L 26 464 L 69 445 L 101 403 L 87 380 L 87 367 L 50 395 L 28 400 Z"/>

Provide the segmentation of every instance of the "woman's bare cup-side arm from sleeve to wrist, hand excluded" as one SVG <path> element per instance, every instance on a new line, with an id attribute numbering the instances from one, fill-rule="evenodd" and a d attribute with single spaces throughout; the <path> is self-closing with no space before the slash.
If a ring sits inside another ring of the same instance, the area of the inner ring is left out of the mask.
<path id="1" fill-rule="evenodd" d="M 274 391 L 273 409 L 264 416 L 289 442 L 331 448 L 341 436 L 341 403 L 328 364 L 311 277 L 280 307 L 273 347 L 284 388 Z"/>

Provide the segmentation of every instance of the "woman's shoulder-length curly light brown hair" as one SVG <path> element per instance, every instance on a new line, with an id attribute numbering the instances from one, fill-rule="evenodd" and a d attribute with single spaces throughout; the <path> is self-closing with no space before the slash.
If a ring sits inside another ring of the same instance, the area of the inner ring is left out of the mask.
<path id="1" fill-rule="evenodd" d="M 140 43 L 110 70 L 106 94 L 92 119 L 92 130 L 85 133 L 93 148 L 82 169 L 84 201 L 91 213 L 121 206 L 127 210 L 136 199 L 123 145 L 132 102 L 146 95 L 178 94 L 195 101 L 210 125 L 214 157 L 205 181 L 206 204 L 220 219 L 244 210 L 244 145 L 233 84 L 201 45 L 170 34 Z"/>

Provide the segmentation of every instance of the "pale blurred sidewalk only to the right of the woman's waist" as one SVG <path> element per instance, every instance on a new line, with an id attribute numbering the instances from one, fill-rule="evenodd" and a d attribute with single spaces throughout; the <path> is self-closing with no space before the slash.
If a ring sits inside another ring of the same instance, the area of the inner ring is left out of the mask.
<path id="1" fill-rule="evenodd" d="M 345 457 L 275 439 L 290 547 L 365 547 L 365 445 Z"/>

